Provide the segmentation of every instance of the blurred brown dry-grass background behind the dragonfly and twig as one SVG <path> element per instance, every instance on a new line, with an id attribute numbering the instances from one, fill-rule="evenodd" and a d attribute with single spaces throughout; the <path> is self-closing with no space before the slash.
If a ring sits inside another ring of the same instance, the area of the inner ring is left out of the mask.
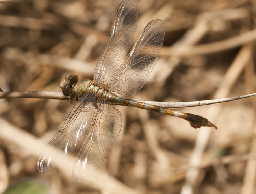
<path id="1" fill-rule="evenodd" d="M 135 40 L 154 19 L 165 21 L 165 40 L 151 76 L 133 100 L 183 102 L 255 92 L 256 1 L 136 2 Z M 93 79 L 120 3 L 0 3 L 2 90 L 60 92 L 61 79 L 70 73 Z M 0 193 L 7 188 L 5 193 L 256 193 L 255 97 L 178 109 L 208 118 L 217 131 L 117 107 L 123 116 L 119 138 L 82 183 L 72 177 L 79 148 L 58 168 L 43 174 L 36 168 L 37 157 L 73 106 L 66 100 L 0 100 Z"/>

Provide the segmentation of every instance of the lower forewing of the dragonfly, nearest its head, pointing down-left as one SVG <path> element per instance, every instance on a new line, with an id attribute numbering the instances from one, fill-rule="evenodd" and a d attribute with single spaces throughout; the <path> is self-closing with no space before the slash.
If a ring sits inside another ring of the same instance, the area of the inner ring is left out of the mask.
<path id="1" fill-rule="evenodd" d="M 51 170 L 59 164 L 61 159 L 73 152 L 90 123 L 95 103 L 95 95 L 88 93 L 76 103 L 58 134 L 38 157 L 37 169 L 39 172 Z"/>

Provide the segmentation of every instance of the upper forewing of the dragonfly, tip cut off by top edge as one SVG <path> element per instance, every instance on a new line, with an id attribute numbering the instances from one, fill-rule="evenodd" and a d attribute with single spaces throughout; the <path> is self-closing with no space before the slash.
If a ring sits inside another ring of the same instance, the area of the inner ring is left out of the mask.
<path id="1" fill-rule="evenodd" d="M 108 42 L 96 66 L 94 79 L 97 83 L 104 83 L 124 59 L 134 39 L 137 15 L 135 0 L 121 2 Z"/>

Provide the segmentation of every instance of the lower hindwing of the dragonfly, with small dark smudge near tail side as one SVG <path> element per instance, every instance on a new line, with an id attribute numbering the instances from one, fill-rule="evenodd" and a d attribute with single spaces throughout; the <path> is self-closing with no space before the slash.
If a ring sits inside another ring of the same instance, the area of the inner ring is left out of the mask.
<path id="1" fill-rule="evenodd" d="M 122 127 L 121 112 L 105 99 L 97 104 L 93 121 L 73 166 L 73 177 L 81 182 L 98 169 L 112 149 Z"/>

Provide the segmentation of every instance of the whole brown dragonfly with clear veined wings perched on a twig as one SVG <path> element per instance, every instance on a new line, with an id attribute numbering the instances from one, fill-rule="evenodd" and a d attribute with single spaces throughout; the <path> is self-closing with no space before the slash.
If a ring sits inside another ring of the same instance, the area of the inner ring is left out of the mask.
<path id="1" fill-rule="evenodd" d="M 183 118 L 194 128 L 206 126 L 217 129 L 202 116 L 127 99 L 136 94 L 147 81 L 160 53 L 165 34 L 163 20 L 151 21 L 124 59 L 134 39 L 136 25 L 135 0 L 122 1 L 117 9 L 108 42 L 96 65 L 94 79 L 79 81 L 78 76 L 71 74 L 61 81 L 63 94 L 70 97 L 69 104 L 77 98 L 79 100 L 58 134 L 39 156 L 39 172 L 47 172 L 57 166 L 74 151 L 82 137 L 85 137 L 72 172 L 77 182 L 91 176 L 112 149 L 121 130 L 122 115 L 113 104 Z"/>

